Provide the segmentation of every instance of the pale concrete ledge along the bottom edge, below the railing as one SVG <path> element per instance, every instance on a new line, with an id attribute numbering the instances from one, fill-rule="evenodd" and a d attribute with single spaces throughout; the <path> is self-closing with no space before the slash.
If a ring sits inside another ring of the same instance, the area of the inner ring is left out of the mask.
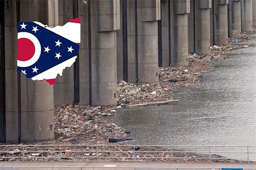
<path id="1" fill-rule="evenodd" d="M 244 170 L 255 170 L 255 164 L 237 164 L 237 163 L 190 163 L 190 162 L 86 162 L 86 161 L 69 161 L 69 162 L 1 162 L 1 170 L 32 170 L 32 169 L 120 169 L 120 170 L 146 170 L 146 169 L 193 169 L 193 170 L 221 170 L 221 168 L 243 168 Z M 15 168 L 15 166 L 23 166 Z M 38 166 L 38 167 L 36 167 Z M 105 166 L 105 167 L 104 167 Z M 108 167 L 107 167 L 108 166 Z M 41 167 L 41 168 L 40 168 Z"/>

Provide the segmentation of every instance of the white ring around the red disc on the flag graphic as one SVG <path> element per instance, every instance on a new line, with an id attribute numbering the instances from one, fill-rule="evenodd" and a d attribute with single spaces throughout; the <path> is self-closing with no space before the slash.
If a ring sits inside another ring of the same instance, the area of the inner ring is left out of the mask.
<path id="1" fill-rule="evenodd" d="M 18 32 L 18 39 L 19 38 L 28 38 L 29 40 L 31 40 L 31 42 L 35 46 L 35 53 L 34 53 L 33 57 L 27 61 L 21 61 L 21 60 L 17 59 L 17 66 L 18 67 L 28 67 L 28 66 L 35 64 L 41 55 L 41 44 L 40 44 L 39 40 L 29 32 Z"/>

